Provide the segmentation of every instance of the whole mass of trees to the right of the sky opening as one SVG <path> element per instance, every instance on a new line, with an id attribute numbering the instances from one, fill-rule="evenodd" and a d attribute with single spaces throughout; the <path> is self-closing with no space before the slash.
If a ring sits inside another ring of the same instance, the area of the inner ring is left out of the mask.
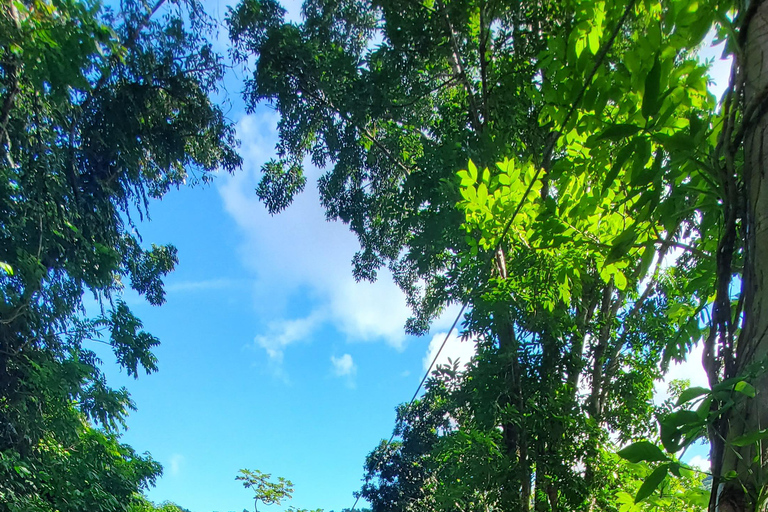
<path id="1" fill-rule="evenodd" d="M 327 169 L 327 216 L 360 240 L 355 275 L 389 266 L 411 332 L 470 306 L 478 354 L 455 377 L 453 421 L 425 426 L 406 457 L 408 425 L 427 420 L 402 413 L 402 446 L 369 461 L 374 510 L 402 509 L 392 492 L 410 503 L 456 460 L 496 466 L 482 482 L 468 462 L 438 478 L 445 508 L 611 508 L 624 463 L 609 434 L 663 446 L 630 457 L 653 466 L 638 499 L 683 478 L 676 455 L 705 437 L 710 508 L 758 506 L 764 161 L 744 138 L 762 122 L 749 59 L 765 54 L 762 5 L 310 0 L 302 23 L 269 0 L 232 11 L 246 102 L 281 116 L 257 189 L 268 209 L 301 190 L 309 158 Z M 708 34 L 734 63 L 719 104 L 696 57 Z M 654 408 L 654 380 L 694 343 L 710 388 Z M 413 457 L 434 472 L 414 474 Z"/>

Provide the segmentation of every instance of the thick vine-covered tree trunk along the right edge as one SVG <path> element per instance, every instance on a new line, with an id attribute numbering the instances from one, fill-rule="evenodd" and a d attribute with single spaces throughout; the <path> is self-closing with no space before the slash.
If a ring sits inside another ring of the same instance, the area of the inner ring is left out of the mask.
<path id="1" fill-rule="evenodd" d="M 744 105 L 744 208 L 745 260 L 742 274 L 744 325 L 736 349 L 735 372 L 768 357 L 768 2 L 753 0 L 744 13 L 746 32 L 742 36 Z M 713 461 L 725 477 L 714 490 L 710 508 L 716 512 L 758 509 L 766 484 L 768 442 L 742 448 L 732 441 L 744 434 L 768 428 L 768 375 L 758 375 L 756 397 L 733 409 L 727 422 L 721 461 Z M 758 448 L 759 446 L 759 448 Z"/>

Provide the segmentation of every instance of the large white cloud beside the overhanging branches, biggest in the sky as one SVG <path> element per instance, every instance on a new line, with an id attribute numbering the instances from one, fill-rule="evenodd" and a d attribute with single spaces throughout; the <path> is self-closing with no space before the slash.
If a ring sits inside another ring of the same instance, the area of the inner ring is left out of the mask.
<path id="1" fill-rule="evenodd" d="M 376 283 L 355 282 L 351 260 L 358 242 L 346 225 L 325 220 L 316 185 L 320 171 L 307 167 L 307 189 L 279 215 L 270 216 L 256 197 L 260 167 L 274 156 L 277 120 L 266 109 L 240 120 L 243 169 L 218 180 L 225 210 L 243 234 L 239 252 L 255 281 L 257 313 L 285 318 L 258 333 L 256 345 L 279 360 L 287 346 L 328 323 L 350 341 L 384 341 L 402 349 L 410 313 L 405 298 L 386 271 Z M 305 314 L 291 318 L 297 297 Z"/>

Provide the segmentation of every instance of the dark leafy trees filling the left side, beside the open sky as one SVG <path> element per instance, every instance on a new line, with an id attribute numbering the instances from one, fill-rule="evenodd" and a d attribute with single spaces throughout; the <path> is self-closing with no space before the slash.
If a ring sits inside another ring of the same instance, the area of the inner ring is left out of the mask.
<path id="1" fill-rule="evenodd" d="M 0 510 L 127 510 L 160 474 L 119 442 L 133 404 L 88 343 L 157 369 L 121 293 L 161 304 L 177 255 L 133 218 L 239 163 L 209 28 L 193 0 L 0 7 Z"/>

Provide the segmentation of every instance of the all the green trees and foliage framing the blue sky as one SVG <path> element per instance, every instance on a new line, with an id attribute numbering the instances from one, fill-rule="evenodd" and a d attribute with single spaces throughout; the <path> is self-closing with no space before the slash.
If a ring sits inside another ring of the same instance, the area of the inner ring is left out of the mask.
<path id="1" fill-rule="evenodd" d="M 119 441 L 158 341 L 120 300 L 161 304 L 173 247 L 148 199 L 239 158 L 209 99 L 222 61 L 193 0 L 15 1 L 0 18 L 0 511 L 176 510 Z M 162 15 L 158 15 L 163 7 Z M 768 4 L 730 0 L 273 0 L 228 15 L 244 98 L 281 116 L 257 189 L 306 184 L 388 267 L 421 334 L 466 305 L 477 344 L 398 411 L 366 461 L 373 512 L 761 510 L 768 448 Z M 721 102 L 696 57 L 733 59 Z M 766 192 L 766 193 L 763 193 Z M 86 310 L 84 293 L 99 311 Z M 654 381 L 703 343 L 709 388 Z M 711 475 L 681 452 L 706 439 Z M 620 451 L 619 448 L 624 446 Z M 256 501 L 292 484 L 238 479 Z"/>

